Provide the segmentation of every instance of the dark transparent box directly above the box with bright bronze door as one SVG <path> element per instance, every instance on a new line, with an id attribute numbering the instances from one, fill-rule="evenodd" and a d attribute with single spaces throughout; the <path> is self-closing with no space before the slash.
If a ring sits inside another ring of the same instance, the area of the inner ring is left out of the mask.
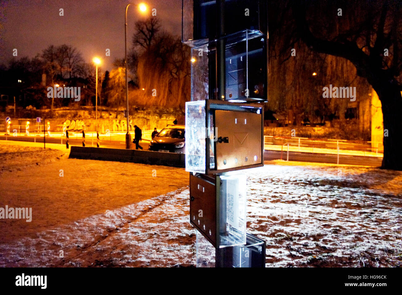
<path id="1" fill-rule="evenodd" d="M 219 46 L 224 46 L 222 65 Z M 267 40 L 259 31 L 245 30 L 193 47 L 191 61 L 191 101 L 267 101 Z M 221 79 L 219 68 L 224 68 Z M 219 94 L 218 80 L 224 83 Z"/>

